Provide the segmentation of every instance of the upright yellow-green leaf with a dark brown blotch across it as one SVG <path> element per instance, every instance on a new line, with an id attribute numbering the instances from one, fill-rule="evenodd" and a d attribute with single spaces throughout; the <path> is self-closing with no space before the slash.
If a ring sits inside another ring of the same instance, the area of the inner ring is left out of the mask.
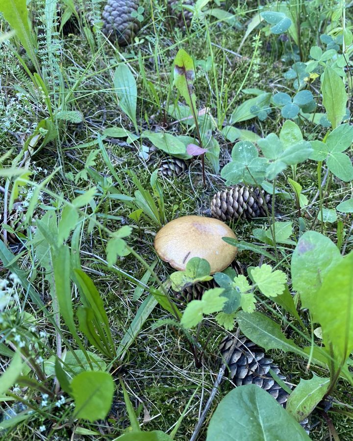
<path id="1" fill-rule="evenodd" d="M 194 62 L 184 49 L 179 49 L 174 60 L 174 84 L 190 107 L 191 113 L 196 115 L 196 96 L 193 92 L 194 79 Z"/>

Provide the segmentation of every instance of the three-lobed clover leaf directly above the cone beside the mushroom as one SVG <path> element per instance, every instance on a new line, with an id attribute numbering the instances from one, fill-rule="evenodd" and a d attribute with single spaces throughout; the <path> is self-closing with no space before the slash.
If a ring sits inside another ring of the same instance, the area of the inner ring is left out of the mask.
<path id="1" fill-rule="evenodd" d="M 257 148 L 249 141 L 236 143 L 232 149 L 232 161 L 223 167 L 221 176 L 227 185 L 244 181 L 248 184 L 261 183 L 265 179 L 267 160 L 259 158 Z"/>

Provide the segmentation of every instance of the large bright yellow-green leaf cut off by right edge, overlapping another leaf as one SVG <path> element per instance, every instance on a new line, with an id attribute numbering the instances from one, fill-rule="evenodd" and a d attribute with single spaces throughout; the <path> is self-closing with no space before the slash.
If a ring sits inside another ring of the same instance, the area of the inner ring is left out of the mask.
<path id="1" fill-rule="evenodd" d="M 337 362 L 353 350 L 353 252 L 323 277 L 310 305 L 313 319 L 322 327 L 325 346 L 332 344 Z"/>

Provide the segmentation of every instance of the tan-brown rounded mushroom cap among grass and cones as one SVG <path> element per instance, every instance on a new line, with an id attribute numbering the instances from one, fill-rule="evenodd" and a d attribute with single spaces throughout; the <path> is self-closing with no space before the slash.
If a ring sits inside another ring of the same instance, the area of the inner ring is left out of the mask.
<path id="1" fill-rule="evenodd" d="M 233 231 L 218 219 L 183 216 L 168 222 L 154 239 L 158 256 L 176 270 L 185 270 L 192 257 L 206 259 L 211 274 L 222 271 L 234 260 L 237 248 L 223 237 L 235 239 Z"/>

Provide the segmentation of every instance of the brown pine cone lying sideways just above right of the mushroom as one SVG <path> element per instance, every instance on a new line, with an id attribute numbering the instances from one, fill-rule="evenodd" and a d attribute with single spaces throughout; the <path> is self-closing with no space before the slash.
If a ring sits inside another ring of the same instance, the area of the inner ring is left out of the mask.
<path id="1" fill-rule="evenodd" d="M 264 190 L 236 186 L 216 193 L 211 201 L 210 214 L 220 221 L 230 221 L 241 216 L 248 220 L 265 217 L 265 204 L 271 211 L 272 196 Z"/>

